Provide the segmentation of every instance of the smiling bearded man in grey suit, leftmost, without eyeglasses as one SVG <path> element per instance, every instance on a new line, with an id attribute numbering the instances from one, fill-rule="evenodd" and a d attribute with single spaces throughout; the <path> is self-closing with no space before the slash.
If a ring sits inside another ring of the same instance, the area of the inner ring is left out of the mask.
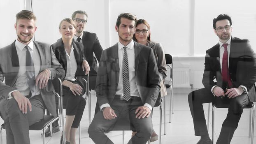
<path id="1" fill-rule="evenodd" d="M 45 109 L 56 116 L 50 80 L 65 72 L 49 44 L 32 41 L 35 22 L 33 12 L 16 14 L 17 39 L 0 49 L 0 115 L 7 144 L 30 144 L 29 125 L 41 121 Z"/>

